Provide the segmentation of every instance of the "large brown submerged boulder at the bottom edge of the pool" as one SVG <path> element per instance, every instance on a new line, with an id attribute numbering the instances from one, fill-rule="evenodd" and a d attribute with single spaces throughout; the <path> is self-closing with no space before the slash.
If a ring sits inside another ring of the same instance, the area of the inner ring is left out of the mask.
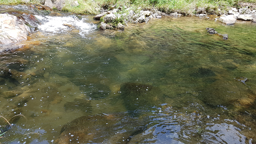
<path id="1" fill-rule="evenodd" d="M 141 133 L 145 121 L 124 114 L 81 116 L 61 128 L 55 144 L 127 143 Z"/>

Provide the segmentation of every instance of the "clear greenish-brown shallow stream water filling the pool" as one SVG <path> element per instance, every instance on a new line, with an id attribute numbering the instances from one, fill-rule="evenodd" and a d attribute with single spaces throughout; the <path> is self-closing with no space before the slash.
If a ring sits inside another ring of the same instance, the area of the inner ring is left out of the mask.
<path id="1" fill-rule="evenodd" d="M 63 21 L 73 27 L 43 25 L 1 55 L 1 115 L 28 119 L 4 136 L 41 134 L 12 143 L 58 143 L 81 116 L 113 127 L 80 143 L 255 143 L 255 24 L 166 17 L 99 31 L 91 16 Z"/>

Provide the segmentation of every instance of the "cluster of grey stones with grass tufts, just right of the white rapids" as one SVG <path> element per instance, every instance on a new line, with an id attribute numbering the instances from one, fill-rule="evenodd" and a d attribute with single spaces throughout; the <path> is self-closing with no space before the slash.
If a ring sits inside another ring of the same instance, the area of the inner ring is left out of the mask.
<path id="1" fill-rule="evenodd" d="M 122 18 L 124 20 L 124 23 L 127 25 L 128 22 L 131 23 L 147 23 L 150 19 L 158 18 L 161 19 L 162 16 L 174 16 L 174 17 L 180 17 L 182 14 L 178 14 L 177 12 L 166 14 L 164 12 L 161 12 L 157 9 L 150 9 L 146 11 L 139 11 L 138 13 L 135 13 L 132 8 L 127 7 L 118 7 L 111 6 L 112 10 L 108 11 L 105 9 L 101 9 L 101 14 L 98 14 L 94 17 L 94 20 L 101 20 L 103 17 L 103 22 L 100 23 L 99 28 L 102 30 L 105 29 L 113 29 L 113 22 L 116 19 Z M 140 9 L 140 8 L 139 8 Z M 121 11 L 122 10 L 122 11 Z M 126 13 L 122 13 L 123 11 L 126 11 Z M 115 27 L 117 29 L 124 29 L 124 25 L 121 23 L 118 23 Z"/>

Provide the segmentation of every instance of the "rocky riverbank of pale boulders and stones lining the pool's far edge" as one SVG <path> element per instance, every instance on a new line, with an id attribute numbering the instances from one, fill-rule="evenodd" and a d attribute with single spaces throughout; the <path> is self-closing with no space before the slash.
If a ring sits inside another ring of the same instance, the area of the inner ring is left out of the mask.
<path id="1" fill-rule="evenodd" d="M 42 0 L 40 4 L 24 4 L 18 5 L 12 8 L 2 6 L 0 15 L 0 51 L 9 51 L 17 48 L 21 48 L 21 45 L 15 45 L 12 47 L 6 47 L 7 44 L 17 43 L 22 40 L 26 40 L 29 33 L 38 30 L 37 27 L 40 22 L 34 17 L 37 15 L 48 15 L 57 8 L 62 10 L 64 3 L 61 0 Z M 72 1 L 74 7 L 78 7 L 77 1 Z M 52 9 L 53 8 L 53 9 Z M 22 11 L 23 10 L 23 11 Z M 58 11 L 57 11 L 58 12 Z M 161 19 L 165 16 L 181 17 L 181 13 L 165 13 L 156 8 L 134 8 L 127 6 L 112 5 L 109 7 L 101 8 L 100 14 L 94 17 L 94 20 L 99 20 L 98 28 L 105 29 L 125 29 L 129 27 L 130 23 L 148 23 L 151 19 Z M 208 18 L 206 13 L 195 14 L 193 16 Z M 223 15 L 212 15 L 211 19 L 221 21 L 225 24 L 235 24 L 239 21 L 256 22 L 256 10 L 255 7 L 243 7 L 232 8 L 228 13 Z"/>

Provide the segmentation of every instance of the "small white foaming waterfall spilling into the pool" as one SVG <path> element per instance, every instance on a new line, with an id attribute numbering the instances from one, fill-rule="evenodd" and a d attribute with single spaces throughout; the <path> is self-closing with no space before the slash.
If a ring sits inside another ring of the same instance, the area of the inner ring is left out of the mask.
<path id="1" fill-rule="evenodd" d="M 84 36 L 84 34 L 96 29 L 96 25 L 86 22 L 86 18 L 79 20 L 76 16 L 52 17 L 36 15 L 35 17 L 42 23 L 38 26 L 38 29 L 44 32 L 66 33 L 70 29 L 77 29 L 79 34 Z"/>

